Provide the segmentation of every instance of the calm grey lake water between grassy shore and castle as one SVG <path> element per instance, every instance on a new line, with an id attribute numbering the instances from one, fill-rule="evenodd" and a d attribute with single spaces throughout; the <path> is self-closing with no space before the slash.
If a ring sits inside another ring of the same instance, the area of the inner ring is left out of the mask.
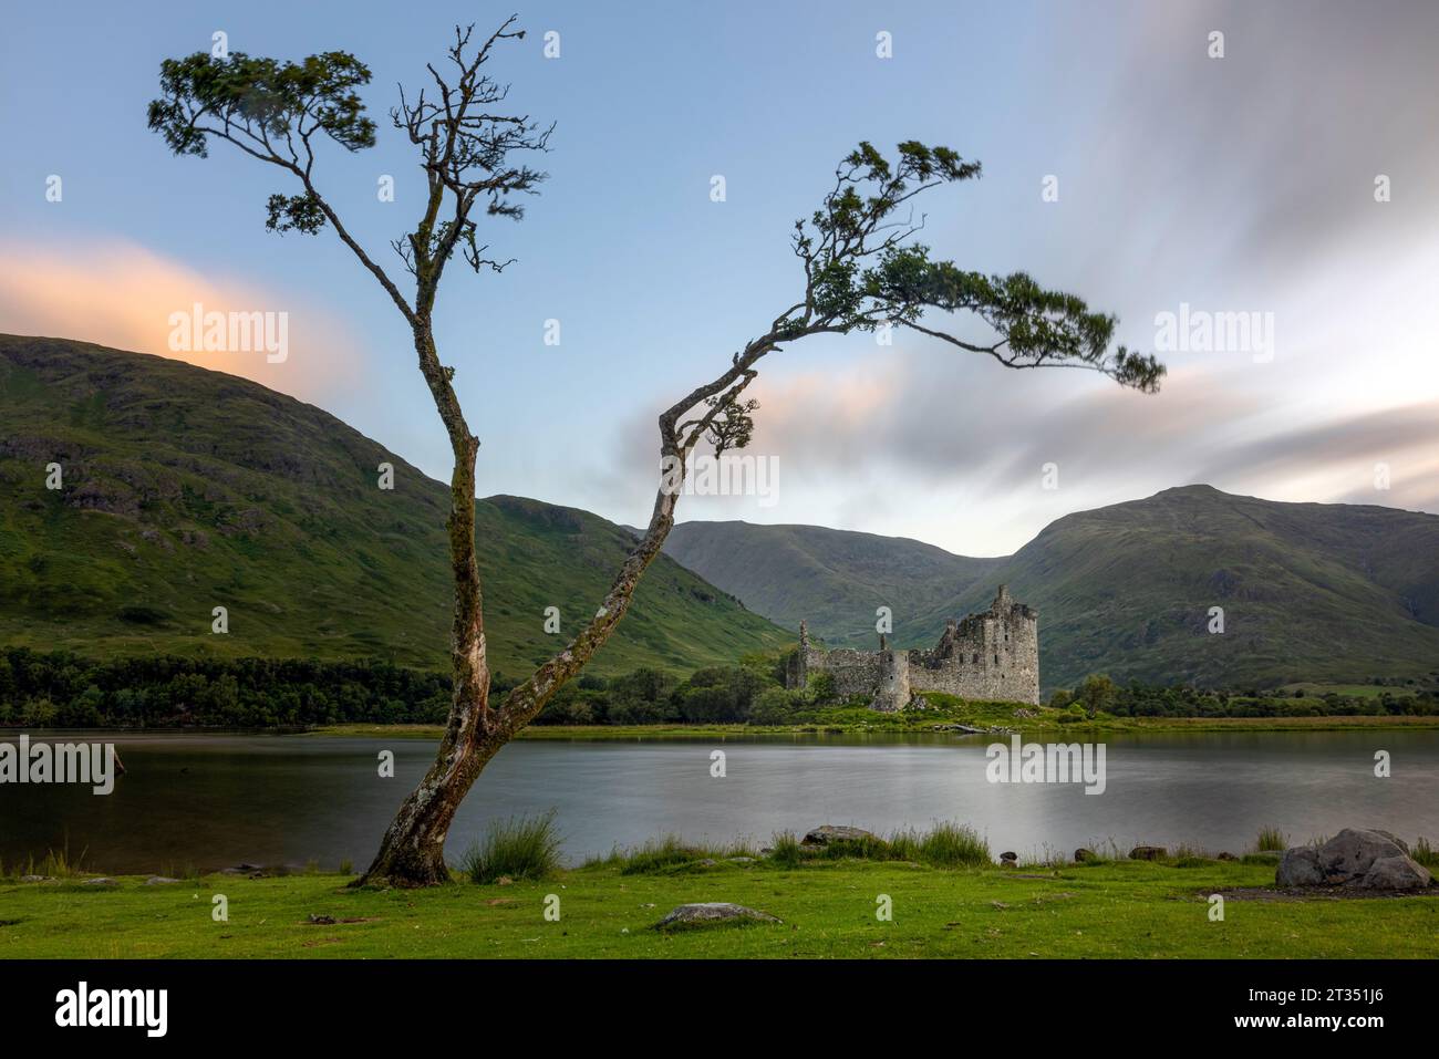
<path id="1" fill-rule="evenodd" d="M 0 735 L 13 741 L 14 732 Z M 32 734 L 42 738 L 39 732 Z M 56 738 L 53 734 L 45 738 Z M 75 740 L 75 734 L 60 738 Z M 89 737 L 86 737 L 89 738 Z M 423 774 L 420 740 L 304 735 L 101 735 L 128 768 L 115 793 L 0 786 L 0 858 L 69 842 L 106 872 L 240 862 L 363 866 Z M 666 832 L 767 842 L 776 830 L 848 823 L 875 832 L 961 820 L 997 853 L 1109 840 L 1253 845 L 1263 824 L 1295 840 L 1344 826 L 1439 840 L 1439 732 L 1253 732 L 1111 738 L 1108 788 L 990 784 L 990 737 L 817 737 L 725 742 L 517 742 L 475 784 L 450 832 L 458 855 L 494 817 L 557 810 L 570 859 Z M 711 778 L 722 747 L 728 776 Z M 377 776 L 393 750 L 394 778 Z M 1373 774 L 1376 750 L 1393 776 Z"/>

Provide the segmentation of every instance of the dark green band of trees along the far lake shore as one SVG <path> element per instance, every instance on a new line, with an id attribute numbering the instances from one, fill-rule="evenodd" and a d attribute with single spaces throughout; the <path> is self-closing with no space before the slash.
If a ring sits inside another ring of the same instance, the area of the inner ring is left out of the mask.
<path id="1" fill-rule="evenodd" d="M 835 692 L 829 673 L 803 691 L 783 686 L 783 659 L 753 655 L 688 676 L 642 668 L 586 673 L 561 688 L 535 724 L 816 724 L 862 708 Z M 514 681 L 495 676 L 499 691 Z M 1075 719 L 1111 717 L 1439 715 L 1439 683 L 1376 682 L 1376 695 L 1258 688 L 1121 685 L 1088 676 L 1056 691 L 1049 706 Z M 69 652 L 0 650 L 0 725 L 55 728 L 301 728 L 328 724 L 442 724 L 448 673 L 383 660 L 191 659 L 94 660 Z"/>

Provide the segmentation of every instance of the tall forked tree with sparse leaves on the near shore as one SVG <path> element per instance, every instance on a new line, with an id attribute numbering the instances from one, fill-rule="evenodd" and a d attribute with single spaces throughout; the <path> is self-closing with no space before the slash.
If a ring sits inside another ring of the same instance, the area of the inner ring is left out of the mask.
<path id="1" fill-rule="evenodd" d="M 1122 345 L 1111 350 L 1115 318 L 1091 312 L 1079 298 L 1048 291 L 1027 275 L 991 276 L 931 260 L 915 240 L 924 226 L 912 200 L 941 184 L 980 176 L 947 147 L 908 141 L 884 157 L 868 142 L 840 161 L 820 206 L 794 224 L 793 250 L 802 281 L 793 301 L 760 334 L 728 358 L 722 373 L 696 386 L 659 416 L 659 485 L 643 537 L 625 558 L 596 614 L 566 646 L 502 702 L 491 702 L 491 669 L 475 560 L 475 455 L 471 432 L 452 386 L 455 370 L 440 363 L 432 327 L 435 299 L 456 250 L 476 272 L 499 272 L 509 262 L 486 256 L 478 217 L 518 220 L 515 196 L 534 193 L 545 178 L 525 164 L 547 150 L 553 125 L 541 128 L 507 109 L 508 86 L 484 71 L 494 49 L 524 32 L 507 20 L 484 42 L 473 26 L 456 27 L 446 73 L 427 66 L 429 82 L 414 95 L 400 91 L 394 127 L 417 148 L 427 194 L 414 229 L 391 243 L 410 273 L 406 296 L 345 229 L 314 183 L 317 141 L 328 137 L 348 151 L 374 145 L 376 127 L 355 89 L 368 68 L 345 52 L 278 62 L 239 52 L 216 58 L 199 52 L 160 68 L 161 98 L 150 104 L 150 128 L 176 154 L 207 155 L 212 141 L 285 170 L 296 194 L 273 194 L 266 227 L 317 233 L 334 227 L 410 325 L 420 373 L 449 432 L 449 558 L 455 576 L 450 639 L 453 698 L 435 764 L 400 807 L 363 881 L 429 885 L 449 878 L 445 836 L 460 801 L 495 753 L 544 708 L 619 626 L 645 568 L 659 554 L 675 522 L 689 458 L 698 446 L 720 453 L 744 447 L 758 407 L 744 397 L 757 365 L 781 345 L 820 334 L 911 328 L 966 353 L 993 357 L 1009 368 L 1078 367 L 1098 371 L 1145 393 L 1158 388 L 1164 368 L 1151 355 Z M 931 319 L 938 314 L 977 318 L 987 338 L 970 341 Z"/>

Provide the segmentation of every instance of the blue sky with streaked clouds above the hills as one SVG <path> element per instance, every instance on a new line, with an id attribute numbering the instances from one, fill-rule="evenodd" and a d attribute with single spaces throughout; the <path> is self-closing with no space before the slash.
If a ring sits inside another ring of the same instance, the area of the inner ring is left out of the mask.
<path id="1" fill-rule="evenodd" d="M 1439 512 L 1439 6 L 889 7 L 26 4 L 0 36 L 0 331 L 240 374 L 448 479 L 409 328 L 374 279 L 330 230 L 265 232 L 285 174 L 224 144 L 176 158 L 145 105 L 160 62 L 217 32 L 252 55 L 353 52 L 378 144 L 324 150 L 317 183 L 407 279 L 387 247 L 423 183 L 386 117 L 396 85 L 420 83 L 453 23 L 515 10 L 530 35 L 491 75 L 555 122 L 550 178 L 522 222 L 481 232 L 517 262 L 452 269 L 436 312 L 481 495 L 646 522 L 655 417 L 796 301 L 793 222 L 858 141 L 921 140 L 984 165 L 922 200 L 932 255 L 1115 314 L 1118 341 L 1168 365 L 1161 393 L 904 331 L 807 338 L 751 387 L 763 495 L 685 496 L 681 521 L 1000 555 L 1061 515 L 1194 482 Z M 286 358 L 170 350 L 170 314 L 196 302 L 286 314 Z M 1206 341 L 1235 314 L 1248 337 Z"/>

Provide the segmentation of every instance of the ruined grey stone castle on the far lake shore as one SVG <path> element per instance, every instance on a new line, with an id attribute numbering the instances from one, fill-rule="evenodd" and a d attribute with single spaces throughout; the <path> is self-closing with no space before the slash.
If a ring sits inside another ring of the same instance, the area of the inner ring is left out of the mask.
<path id="1" fill-rule="evenodd" d="M 825 650 L 800 622 L 800 646 L 784 671 L 784 686 L 804 688 L 829 673 L 840 698 L 863 695 L 871 709 L 905 709 L 915 692 L 941 691 L 961 699 L 1039 704 L 1039 614 L 1014 603 L 1000 586 L 990 609 L 950 622 L 930 650 Z"/>

